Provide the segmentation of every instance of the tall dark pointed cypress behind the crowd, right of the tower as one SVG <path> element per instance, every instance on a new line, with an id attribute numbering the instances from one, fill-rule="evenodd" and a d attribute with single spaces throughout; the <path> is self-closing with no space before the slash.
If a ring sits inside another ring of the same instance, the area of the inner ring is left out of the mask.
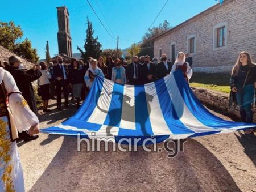
<path id="1" fill-rule="evenodd" d="M 93 37 L 93 26 L 92 22 L 87 18 L 88 27 L 86 30 L 86 39 L 84 49 L 85 52 L 77 47 L 77 49 L 82 53 L 82 58 L 86 61 L 88 57 L 98 58 L 101 54 L 101 44 L 98 42 L 98 36 L 96 38 Z"/>

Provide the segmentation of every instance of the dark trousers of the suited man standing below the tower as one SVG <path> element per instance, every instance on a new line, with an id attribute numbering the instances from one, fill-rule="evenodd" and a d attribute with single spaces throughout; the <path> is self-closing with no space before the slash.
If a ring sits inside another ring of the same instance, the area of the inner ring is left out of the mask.
<path id="1" fill-rule="evenodd" d="M 65 106 L 68 105 L 68 81 L 67 80 L 57 80 L 56 81 L 56 91 L 57 91 L 57 106 L 61 106 L 61 88 L 63 89 Z"/>

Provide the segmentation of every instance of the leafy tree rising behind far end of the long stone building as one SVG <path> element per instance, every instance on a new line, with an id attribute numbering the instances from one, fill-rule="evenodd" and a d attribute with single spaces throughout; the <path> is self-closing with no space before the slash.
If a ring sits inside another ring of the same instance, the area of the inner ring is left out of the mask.
<path id="1" fill-rule="evenodd" d="M 167 20 L 164 20 L 163 23 L 160 23 L 158 27 L 153 27 L 148 29 L 146 34 L 142 37 L 142 42 L 140 44 L 140 56 L 149 55 L 151 58 L 154 57 L 154 41 L 152 39 L 163 32 L 166 32 L 170 29 L 170 23 Z"/>

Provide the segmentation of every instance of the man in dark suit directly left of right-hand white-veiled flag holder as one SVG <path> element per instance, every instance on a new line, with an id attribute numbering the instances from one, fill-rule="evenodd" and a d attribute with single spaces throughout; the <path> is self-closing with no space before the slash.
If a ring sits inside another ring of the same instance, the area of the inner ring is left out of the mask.
<path id="1" fill-rule="evenodd" d="M 172 70 L 172 62 L 167 61 L 166 54 L 162 54 L 162 62 L 156 65 L 156 76 L 158 79 L 164 78 L 165 76 L 169 75 Z"/>

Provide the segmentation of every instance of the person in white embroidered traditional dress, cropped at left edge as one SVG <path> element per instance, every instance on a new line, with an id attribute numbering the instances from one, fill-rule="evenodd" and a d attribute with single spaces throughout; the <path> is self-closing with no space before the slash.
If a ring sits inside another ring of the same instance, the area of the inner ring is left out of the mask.
<path id="1" fill-rule="evenodd" d="M 38 134 L 39 120 L 28 107 L 13 76 L 3 67 L 0 67 L 0 84 L 0 191 L 23 192 L 23 171 L 15 135 L 17 130 Z M 6 102 L 7 96 L 9 102 Z"/>

